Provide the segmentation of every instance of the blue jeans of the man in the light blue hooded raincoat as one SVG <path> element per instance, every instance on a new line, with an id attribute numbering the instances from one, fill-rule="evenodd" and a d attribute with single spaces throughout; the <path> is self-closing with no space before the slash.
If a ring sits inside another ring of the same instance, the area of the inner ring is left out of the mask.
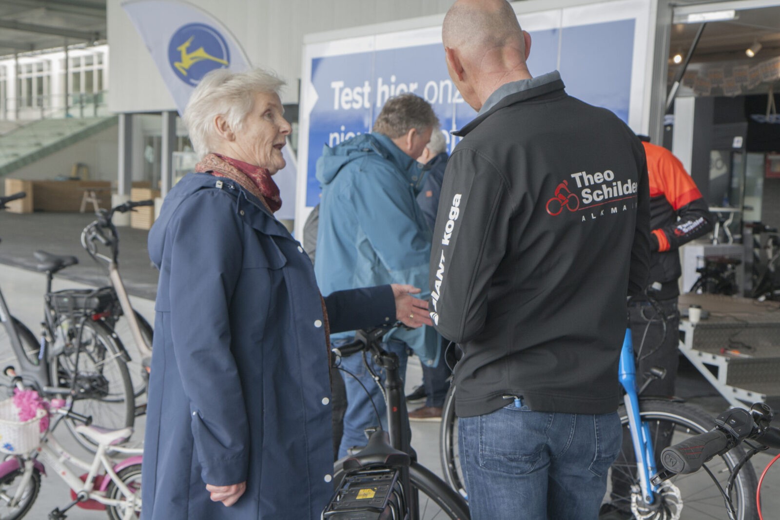
<path id="1" fill-rule="evenodd" d="M 403 379 L 406 379 L 406 359 L 408 354 L 406 353 L 406 343 L 401 341 L 388 341 L 382 343 L 381 347 L 387 352 L 394 352 L 399 359 L 399 372 Z M 367 354 L 367 357 L 371 357 Z M 377 373 L 382 382 L 385 381 L 385 372 L 381 370 L 374 361 L 369 361 L 371 369 L 374 373 Z M 344 380 L 344 386 L 346 387 L 346 412 L 344 413 L 344 433 L 342 434 L 342 441 L 339 445 L 339 458 L 346 457 L 346 451 L 353 446 L 365 446 L 368 442 L 365 430 L 371 426 L 377 426 L 377 414 L 381 421 L 382 429 L 387 429 L 387 407 L 385 406 L 385 398 L 382 397 L 382 392 L 374 382 L 371 374 L 366 369 L 363 363 L 363 355 L 355 354 L 348 358 L 342 359 L 341 367 L 344 370 L 353 373 L 360 383 L 358 383 L 354 377 L 348 373 L 339 370 Z M 360 384 L 363 384 L 361 386 Z M 363 390 L 365 387 L 365 390 Z M 368 391 L 368 394 L 366 393 Z M 369 396 L 369 394 L 371 394 Z M 371 405 L 371 401 L 374 405 Z M 401 395 L 401 401 L 406 402 L 403 398 L 403 392 Z M 374 406 L 376 409 L 374 410 Z"/>

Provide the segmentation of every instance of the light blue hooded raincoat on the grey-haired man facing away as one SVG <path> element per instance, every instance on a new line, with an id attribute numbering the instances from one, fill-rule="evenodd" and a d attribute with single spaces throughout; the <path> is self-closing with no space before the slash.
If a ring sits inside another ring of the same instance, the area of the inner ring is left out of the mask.
<path id="1" fill-rule="evenodd" d="M 415 199 L 424 181 L 420 164 L 387 136 L 366 133 L 326 145 L 317 180 L 322 199 L 314 269 L 322 292 L 396 283 L 422 288 L 419 296 L 427 299 L 431 230 Z M 396 330 L 388 338 L 438 363 L 432 327 Z"/>

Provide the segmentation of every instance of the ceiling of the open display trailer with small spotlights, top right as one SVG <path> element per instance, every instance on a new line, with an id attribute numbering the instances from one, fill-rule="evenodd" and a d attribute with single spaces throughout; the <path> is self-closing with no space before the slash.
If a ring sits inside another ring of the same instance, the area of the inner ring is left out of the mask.
<path id="1" fill-rule="evenodd" d="M 736 16 L 725 22 L 707 23 L 691 57 L 692 64 L 740 61 L 754 65 L 780 55 L 780 6 L 737 11 Z M 672 25 L 670 58 L 678 52 L 686 56 L 699 27 L 700 23 Z M 745 49 L 754 41 L 759 41 L 763 48 L 754 58 L 748 58 Z"/>

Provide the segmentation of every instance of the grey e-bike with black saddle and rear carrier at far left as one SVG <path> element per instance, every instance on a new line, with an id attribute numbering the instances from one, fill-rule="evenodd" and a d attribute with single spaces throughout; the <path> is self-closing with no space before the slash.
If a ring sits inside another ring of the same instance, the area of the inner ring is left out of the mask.
<path id="1" fill-rule="evenodd" d="M 23 193 L 0 198 L 0 207 Z M 46 273 L 41 341 L 11 316 L 0 292 L 0 359 L 2 375 L 16 375 L 38 391 L 57 387 L 72 394 L 76 412 L 94 416 L 105 426 L 133 426 L 135 398 L 126 362 L 129 356 L 105 317 L 116 313 L 110 288 L 53 292 L 54 274 L 76 264 L 75 256 L 36 253 L 38 271 Z M 9 348 L 10 347 L 10 348 Z M 7 379 L 6 379 L 7 382 Z M 76 432 L 76 440 L 94 451 L 94 442 Z"/>

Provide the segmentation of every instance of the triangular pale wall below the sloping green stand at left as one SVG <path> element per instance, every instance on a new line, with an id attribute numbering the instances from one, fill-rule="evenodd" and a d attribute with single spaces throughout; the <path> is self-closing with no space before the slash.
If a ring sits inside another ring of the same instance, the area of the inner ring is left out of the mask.
<path id="1" fill-rule="evenodd" d="M 57 175 L 70 175 L 73 164 L 80 162 L 90 168 L 90 180 L 116 182 L 118 128 L 105 129 L 7 176 L 13 179 L 54 179 Z"/>

